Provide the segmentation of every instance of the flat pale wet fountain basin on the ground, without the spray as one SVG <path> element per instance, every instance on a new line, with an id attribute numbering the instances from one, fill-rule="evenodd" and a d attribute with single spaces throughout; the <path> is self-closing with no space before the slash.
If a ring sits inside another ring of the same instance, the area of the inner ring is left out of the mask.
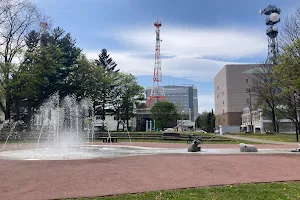
<path id="1" fill-rule="evenodd" d="M 29 148 L 17 150 L 3 150 L 0 159 L 13 160 L 78 160 L 96 158 L 116 158 L 137 155 L 154 154 L 289 154 L 290 150 L 259 149 L 258 152 L 240 152 L 234 149 L 201 149 L 200 152 L 188 152 L 186 148 L 152 148 L 141 146 L 121 145 L 83 145 L 78 147 Z M 295 154 L 295 153 L 292 153 Z M 300 155 L 299 153 L 296 153 Z"/>

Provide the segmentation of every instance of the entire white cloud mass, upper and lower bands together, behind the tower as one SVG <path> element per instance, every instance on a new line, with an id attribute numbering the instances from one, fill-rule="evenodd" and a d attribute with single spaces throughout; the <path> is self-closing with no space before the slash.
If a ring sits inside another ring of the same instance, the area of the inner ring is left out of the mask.
<path id="1" fill-rule="evenodd" d="M 117 30 L 113 38 L 126 46 L 126 51 L 110 50 L 110 55 L 122 71 L 135 75 L 152 75 L 154 67 L 155 29 Z M 266 51 L 263 33 L 246 29 L 200 29 L 162 27 L 161 53 L 163 75 L 212 82 L 226 64 L 221 60 L 253 57 Z M 96 58 L 99 50 L 88 50 Z M 146 56 L 147 55 L 147 56 Z M 150 58 L 149 58 L 150 56 Z M 151 58 L 152 56 L 152 58 Z"/>

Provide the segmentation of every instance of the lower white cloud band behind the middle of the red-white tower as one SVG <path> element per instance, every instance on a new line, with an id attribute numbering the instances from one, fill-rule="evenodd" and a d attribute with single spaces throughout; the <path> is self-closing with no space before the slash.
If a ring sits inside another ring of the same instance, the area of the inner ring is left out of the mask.
<path id="1" fill-rule="evenodd" d="M 98 52 L 87 52 L 88 58 L 97 58 Z M 134 56 L 131 53 L 110 52 L 122 71 L 134 75 L 152 75 L 154 61 L 149 58 Z M 218 71 L 228 63 L 209 59 L 168 58 L 162 60 L 163 75 L 187 78 L 199 82 L 211 82 Z"/>

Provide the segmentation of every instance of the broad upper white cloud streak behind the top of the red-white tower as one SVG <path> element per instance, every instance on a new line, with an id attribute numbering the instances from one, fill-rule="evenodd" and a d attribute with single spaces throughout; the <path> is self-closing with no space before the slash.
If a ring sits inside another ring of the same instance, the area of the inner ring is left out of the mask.
<path id="1" fill-rule="evenodd" d="M 119 31 L 115 38 L 135 49 L 151 53 L 155 46 L 153 29 Z M 218 57 L 223 59 L 258 55 L 266 51 L 264 32 L 234 28 L 161 28 L 161 53 L 184 58 Z"/>

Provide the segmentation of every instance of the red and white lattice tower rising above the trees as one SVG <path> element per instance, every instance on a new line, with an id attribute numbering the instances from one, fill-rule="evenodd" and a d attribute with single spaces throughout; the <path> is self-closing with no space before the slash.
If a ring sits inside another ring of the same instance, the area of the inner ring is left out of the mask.
<path id="1" fill-rule="evenodd" d="M 155 65 L 154 65 L 154 74 L 153 74 L 153 85 L 151 94 L 148 100 L 148 107 L 151 107 L 153 104 L 159 101 L 166 101 L 164 88 L 162 86 L 162 72 L 161 72 L 161 59 L 160 59 L 160 27 L 161 22 L 157 20 L 154 23 L 156 28 L 156 48 L 155 48 Z"/>

